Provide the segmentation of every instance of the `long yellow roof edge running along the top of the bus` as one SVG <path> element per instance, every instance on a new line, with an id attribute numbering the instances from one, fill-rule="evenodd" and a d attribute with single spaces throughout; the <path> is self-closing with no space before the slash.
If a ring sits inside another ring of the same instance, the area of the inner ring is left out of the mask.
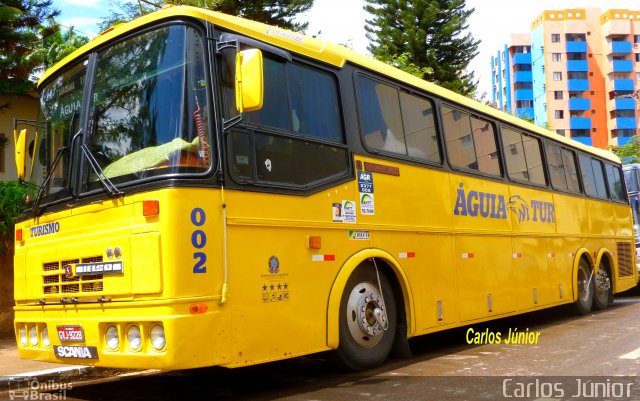
<path id="1" fill-rule="evenodd" d="M 282 47 L 292 52 L 303 54 L 313 59 L 321 60 L 336 67 L 343 67 L 347 62 L 358 64 L 362 67 L 377 71 L 388 77 L 405 82 L 411 86 L 424 89 L 442 98 L 449 99 L 453 102 L 467 106 L 486 115 L 501 119 L 507 123 L 520 126 L 523 129 L 527 129 L 529 131 L 534 131 L 542 136 L 567 144 L 584 152 L 595 154 L 616 163 L 620 162 L 620 159 L 616 155 L 607 150 L 583 145 L 580 142 L 566 138 L 562 135 L 558 135 L 552 131 L 529 123 L 528 121 L 494 109 L 493 107 L 487 106 L 478 101 L 462 96 L 448 89 L 442 88 L 436 84 L 419 79 L 388 64 L 354 52 L 344 46 L 327 42 L 325 40 L 316 39 L 297 32 L 292 32 L 286 29 L 269 26 L 261 22 L 255 22 L 244 18 L 223 14 L 217 11 L 190 6 L 165 6 L 161 10 L 147 14 L 134 21 L 119 24 L 107 29 L 106 31 L 99 34 L 96 38 L 91 40 L 89 43 L 71 53 L 62 61 L 47 70 L 38 82 L 38 86 L 45 82 L 56 71 L 62 69 L 66 64 L 72 62 L 83 54 L 91 52 L 96 47 L 99 47 L 102 44 L 120 35 L 126 34 L 127 32 L 144 27 L 145 25 L 148 25 L 152 22 L 175 17 L 191 17 L 206 20 L 213 23 L 214 25 L 227 28 L 229 30 L 247 35 L 258 40 L 262 40 L 266 43 Z"/>

